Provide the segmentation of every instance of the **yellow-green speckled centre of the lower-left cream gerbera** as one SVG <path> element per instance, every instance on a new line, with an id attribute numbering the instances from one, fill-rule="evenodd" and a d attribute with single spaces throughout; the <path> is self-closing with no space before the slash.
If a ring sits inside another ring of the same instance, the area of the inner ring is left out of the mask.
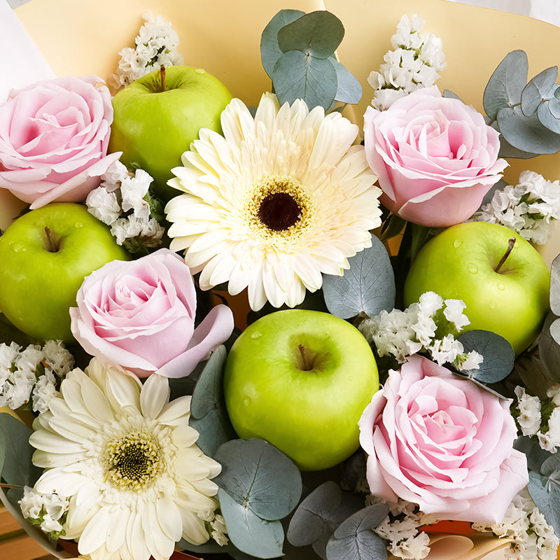
<path id="1" fill-rule="evenodd" d="M 158 440 L 143 430 L 109 440 L 104 457 L 106 480 L 121 490 L 145 489 L 165 469 Z"/>

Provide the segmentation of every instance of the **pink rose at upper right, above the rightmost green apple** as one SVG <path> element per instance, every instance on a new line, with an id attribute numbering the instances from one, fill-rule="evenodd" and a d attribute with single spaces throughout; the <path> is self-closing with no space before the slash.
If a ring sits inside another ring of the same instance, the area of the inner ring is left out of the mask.
<path id="1" fill-rule="evenodd" d="M 507 166 L 498 160 L 499 134 L 458 99 L 423 87 L 386 111 L 364 116 L 367 162 L 379 177 L 379 198 L 419 225 L 447 227 L 477 211 Z"/>

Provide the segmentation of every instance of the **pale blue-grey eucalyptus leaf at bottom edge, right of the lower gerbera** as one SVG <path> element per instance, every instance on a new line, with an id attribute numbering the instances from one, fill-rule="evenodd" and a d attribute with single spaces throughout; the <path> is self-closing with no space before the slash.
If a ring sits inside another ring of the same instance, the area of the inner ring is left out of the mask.
<path id="1" fill-rule="evenodd" d="M 218 500 L 228 526 L 228 537 L 241 552 L 257 558 L 281 556 L 284 533 L 280 521 L 261 519 L 223 488 L 218 489 Z"/>

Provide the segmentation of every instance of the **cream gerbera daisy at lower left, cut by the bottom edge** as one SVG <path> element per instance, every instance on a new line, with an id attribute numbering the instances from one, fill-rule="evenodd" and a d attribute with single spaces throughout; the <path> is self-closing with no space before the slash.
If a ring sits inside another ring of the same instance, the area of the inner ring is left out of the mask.
<path id="1" fill-rule="evenodd" d="M 94 358 L 70 372 L 34 422 L 34 489 L 69 498 L 65 538 L 92 560 L 167 560 L 181 537 L 209 539 L 217 507 L 211 478 L 221 466 L 202 454 L 188 426 L 190 397 L 169 402 L 165 377 L 142 386 Z"/>

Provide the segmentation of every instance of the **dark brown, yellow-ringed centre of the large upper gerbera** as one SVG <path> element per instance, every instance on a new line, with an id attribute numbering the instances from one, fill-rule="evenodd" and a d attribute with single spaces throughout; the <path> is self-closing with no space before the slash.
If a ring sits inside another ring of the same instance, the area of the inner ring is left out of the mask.
<path id="1" fill-rule="evenodd" d="M 314 204 L 300 181 L 266 175 L 249 191 L 244 213 L 251 230 L 263 239 L 287 241 L 310 227 Z"/>

